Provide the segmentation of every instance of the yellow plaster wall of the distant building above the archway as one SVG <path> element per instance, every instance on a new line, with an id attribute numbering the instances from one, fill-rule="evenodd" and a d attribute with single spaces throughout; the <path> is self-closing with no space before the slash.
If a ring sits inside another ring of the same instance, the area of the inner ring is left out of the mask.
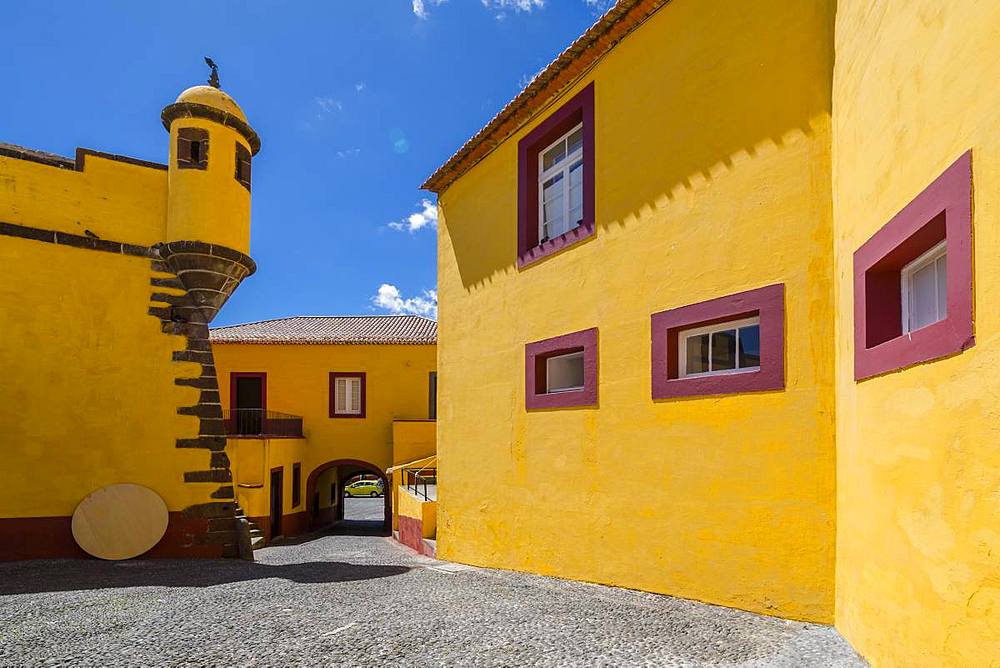
<path id="1" fill-rule="evenodd" d="M 393 463 L 393 420 L 427 417 L 428 374 L 436 366 L 433 345 L 214 343 L 213 351 L 223 408 L 230 406 L 230 373 L 265 372 L 268 410 L 303 418 L 304 440 L 271 439 L 267 446 L 267 470 L 285 466 L 286 514 L 307 509 L 305 486 L 313 470 L 337 459 L 361 460 L 385 470 Z M 330 417 L 331 371 L 367 374 L 365 418 Z M 227 452 L 239 459 L 244 447 L 243 441 L 230 439 Z M 303 506 L 292 509 L 291 465 L 295 461 L 302 463 Z M 239 475 L 239 464 L 236 471 Z M 243 480 L 238 477 L 237 483 Z M 322 502 L 323 495 L 329 495 L 329 481 L 317 489 Z M 269 493 L 267 481 L 259 489 L 237 487 L 249 516 L 268 514 Z"/>

